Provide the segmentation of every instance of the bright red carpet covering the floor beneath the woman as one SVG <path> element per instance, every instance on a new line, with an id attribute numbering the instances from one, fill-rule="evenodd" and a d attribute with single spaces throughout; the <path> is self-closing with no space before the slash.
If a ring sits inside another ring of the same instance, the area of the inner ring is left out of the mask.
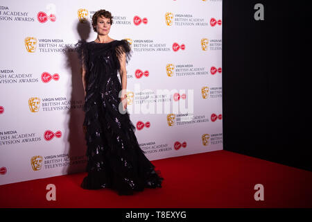
<path id="1" fill-rule="evenodd" d="M 155 160 L 163 187 L 134 196 L 110 189 L 84 190 L 87 173 L 0 186 L 0 207 L 312 207 L 312 172 L 254 157 L 214 151 Z M 56 200 L 46 200 L 46 185 L 56 186 Z M 254 185 L 264 200 L 254 200 Z"/>

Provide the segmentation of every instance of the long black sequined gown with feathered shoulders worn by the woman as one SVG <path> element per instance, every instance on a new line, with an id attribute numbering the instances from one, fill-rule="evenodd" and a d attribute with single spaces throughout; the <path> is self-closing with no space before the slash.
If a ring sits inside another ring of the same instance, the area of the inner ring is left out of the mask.
<path id="1" fill-rule="evenodd" d="M 117 77 L 119 56 L 131 56 L 127 40 L 108 43 L 79 40 L 76 51 L 86 73 L 85 139 L 87 172 L 81 187 L 109 187 L 119 195 L 131 195 L 145 187 L 162 187 L 162 178 L 146 158 L 135 136 L 128 112 L 119 112 L 121 83 Z"/>

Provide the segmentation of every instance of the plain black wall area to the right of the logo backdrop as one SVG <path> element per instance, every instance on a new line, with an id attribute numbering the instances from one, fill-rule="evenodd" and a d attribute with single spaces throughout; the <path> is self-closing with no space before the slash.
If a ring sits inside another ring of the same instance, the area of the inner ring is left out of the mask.
<path id="1" fill-rule="evenodd" d="M 223 0 L 223 142 L 311 171 L 311 19 L 305 1 Z M 254 5 L 264 20 L 254 19 Z"/>

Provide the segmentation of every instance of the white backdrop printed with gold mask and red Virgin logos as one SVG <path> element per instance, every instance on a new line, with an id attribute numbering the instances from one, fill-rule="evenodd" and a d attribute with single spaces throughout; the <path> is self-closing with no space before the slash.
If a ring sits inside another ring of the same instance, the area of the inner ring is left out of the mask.
<path id="1" fill-rule="evenodd" d="M 96 40 L 99 9 L 132 47 L 128 112 L 148 159 L 223 149 L 222 1 L 3 0 L 0 185 L 85 171 L 75 44 Z"/>

